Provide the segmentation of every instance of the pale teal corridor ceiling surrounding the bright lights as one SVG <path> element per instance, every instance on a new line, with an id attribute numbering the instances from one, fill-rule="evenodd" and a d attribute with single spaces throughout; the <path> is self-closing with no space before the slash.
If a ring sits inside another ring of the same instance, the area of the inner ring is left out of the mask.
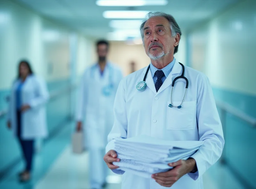
<path id="1" fill-rule="evenodd" d="M 112 19 L 105 19 L 103 11 L 130 10 L 130 7 L 98 6 L 96 0 L 17 0 L 44 16 L 75 28 L 93 38 L 106 37 L 113 28 Z M 157 0 L 156 0 L 157 1 Z M 166 6 L 137 6 L 140 11 L 163 11 L 172 14 L 183 32 L 195 27 L 240 0 L 168 0 Z M 139 26 L 138 26 L 139 28 Z"/>

